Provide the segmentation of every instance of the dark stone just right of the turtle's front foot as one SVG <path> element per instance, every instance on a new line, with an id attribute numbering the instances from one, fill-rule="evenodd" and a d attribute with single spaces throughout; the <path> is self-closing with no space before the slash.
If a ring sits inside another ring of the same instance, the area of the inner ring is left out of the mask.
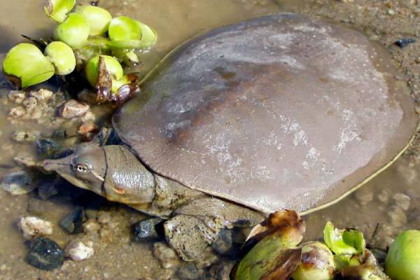
<path id="1" fill-rule="evenodd" d="M 217 239 L 211 244 L 214 251 L 223 257 L 236 259 L 241 253 L 241 246 L 245 241 L 240 229 L 223 229 Z"/>

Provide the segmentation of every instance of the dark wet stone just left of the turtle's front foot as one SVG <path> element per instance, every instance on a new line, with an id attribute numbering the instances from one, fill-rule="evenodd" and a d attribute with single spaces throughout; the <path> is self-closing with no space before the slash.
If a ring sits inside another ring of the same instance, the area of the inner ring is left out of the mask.
<path id="1" fill-rule="evenodd" d="M 163 223 L 161 218 L 151 218 L 134 224 L 134 239 L 136 241 L 158 241 L 164 239 Z"/>

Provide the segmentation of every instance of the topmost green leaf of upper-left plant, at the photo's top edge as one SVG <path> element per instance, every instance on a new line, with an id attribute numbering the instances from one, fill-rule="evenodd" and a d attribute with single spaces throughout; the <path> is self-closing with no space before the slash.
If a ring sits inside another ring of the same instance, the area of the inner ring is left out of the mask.
<path id="1" fill-rule="evenodd" d="M 81 5 L 76 7 L 76 13 L 83 15 L 89 22 L 90 36 L 104 35 L 108 31 L 112 15 L 108 10 L 97 6 Z"/>

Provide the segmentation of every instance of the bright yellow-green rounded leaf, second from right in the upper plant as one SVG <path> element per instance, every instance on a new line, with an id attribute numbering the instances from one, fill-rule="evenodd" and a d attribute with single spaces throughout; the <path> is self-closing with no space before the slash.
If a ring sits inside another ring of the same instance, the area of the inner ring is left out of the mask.
<path id="1" fill-rule="evenodd" d="M 128 17 L 113 18 L 108 29 L 112 41 L 141 40 L 141 27 L 136 20 Z"/>

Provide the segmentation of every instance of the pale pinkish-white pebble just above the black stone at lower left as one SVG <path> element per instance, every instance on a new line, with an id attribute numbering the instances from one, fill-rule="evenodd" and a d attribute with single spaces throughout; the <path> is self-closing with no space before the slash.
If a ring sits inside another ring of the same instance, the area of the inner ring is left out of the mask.
<path id="1" fill-rule="evenodd" d="M 52 235 L 52 223 L 35 216 L 20 217 L 18 228 L 28 240 L 42 235 Z"/>

